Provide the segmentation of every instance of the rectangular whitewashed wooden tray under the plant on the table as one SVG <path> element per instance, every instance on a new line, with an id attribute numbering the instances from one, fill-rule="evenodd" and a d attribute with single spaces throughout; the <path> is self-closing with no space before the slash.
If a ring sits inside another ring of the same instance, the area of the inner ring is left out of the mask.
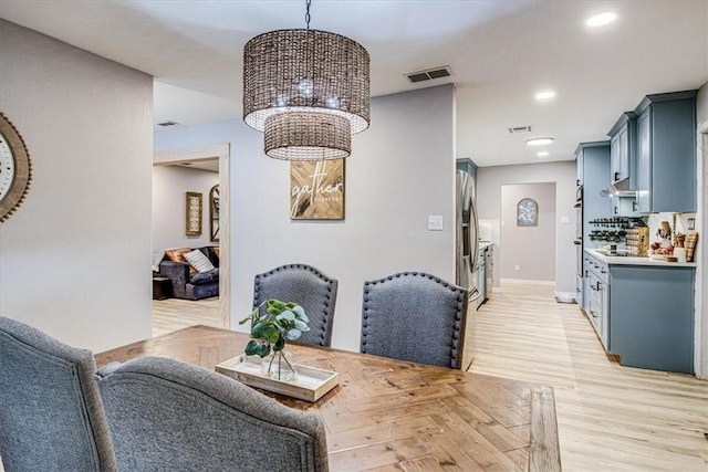
<path id="1" fill-rule="evenodd" d="M 216 371 L 242 384 L 306 401 L 317 401 L 324 394 L 340 384 L 339 374 L 316 367 L 298 366 L 298 376 L 290 381 L 275 380 L 261 371 L 258 363 L 244 354 L 216 366 Z"/>

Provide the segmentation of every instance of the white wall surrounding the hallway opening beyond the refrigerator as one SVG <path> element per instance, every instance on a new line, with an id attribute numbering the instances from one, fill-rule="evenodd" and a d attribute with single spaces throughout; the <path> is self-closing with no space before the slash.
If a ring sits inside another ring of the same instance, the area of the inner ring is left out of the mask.
<path id="1" fill-rule="evenodd" d="M 575 161 L 524 166 L 480 167 L 477 169 L 477 206 L 480 222 L 491 228 L 497 245 L 494 264 L 500 264 L 501 187 L 512 183 L 555 182 L 555 291 L 575 292 Z M 568 223 L 563 223 L 568 218 Z M 494 279 L 494 284 L 498 284 Z"/>

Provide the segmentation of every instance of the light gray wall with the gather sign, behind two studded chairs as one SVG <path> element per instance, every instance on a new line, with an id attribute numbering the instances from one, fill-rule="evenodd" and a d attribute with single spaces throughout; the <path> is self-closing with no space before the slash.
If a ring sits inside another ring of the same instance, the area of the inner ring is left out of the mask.
<path id="1" fill-rule="evenodd" d="M 290 166 L 266 157 L 262 134 L 241 120 L 156 134 L 157 151 L 231 143 L 232 322 L 250 312 L 257 273 L 309 263 L 340 281 L 333 345 L 358 350 L 365 280 L 403 270 L 455 280 L 454 92 L 372 99 L 372 125 L 346 159 L 344 221 L 291 221 Z M 427 231 L 429 214 L 444 231 Z"/>

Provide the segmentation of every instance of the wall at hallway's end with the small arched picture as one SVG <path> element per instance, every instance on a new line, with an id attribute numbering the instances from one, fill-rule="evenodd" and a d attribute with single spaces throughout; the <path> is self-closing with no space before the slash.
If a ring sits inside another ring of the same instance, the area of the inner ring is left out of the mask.
<path id="1" fill-rule="evenodd" d="M 539 204 L 534 227 L 517 224 L 517 204 L 523 198 L 532 198 Z M 554 282 L 555 222 L 555 183 L 502 186 L 499 276 Z"/>

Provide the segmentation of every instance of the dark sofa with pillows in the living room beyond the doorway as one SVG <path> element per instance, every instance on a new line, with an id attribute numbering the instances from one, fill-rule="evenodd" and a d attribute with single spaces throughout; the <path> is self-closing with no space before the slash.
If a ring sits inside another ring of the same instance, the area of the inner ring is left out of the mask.
<path id="1" fill-rule="evenodd" d="M 185 259 L 191 248 L 165 251 L 159 271 L 153 275 L 167 277 L 173 284 L 173 296 L 185 300 L 201 300 L 219 295 L 219 247 L 205 245 L 198 249 L 207 256 L 214 269 L 197 271 Z"/>

